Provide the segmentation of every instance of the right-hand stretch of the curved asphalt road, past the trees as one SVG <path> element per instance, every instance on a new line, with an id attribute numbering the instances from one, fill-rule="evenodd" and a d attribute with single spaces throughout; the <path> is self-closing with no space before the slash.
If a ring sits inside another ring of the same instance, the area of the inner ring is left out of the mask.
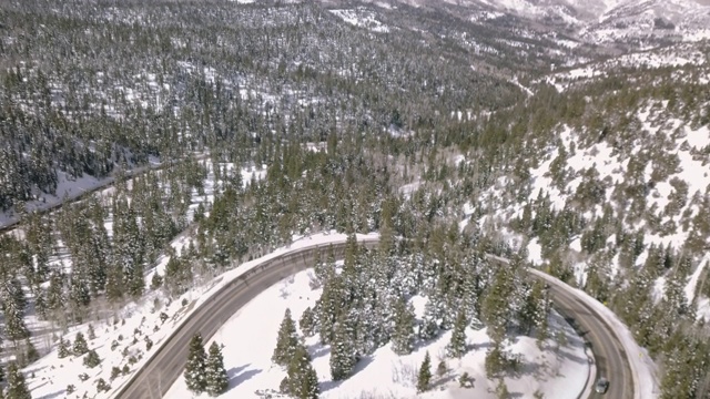
<path id="1" fill-rule="evenodd" d="M 536 275 L 540 275 L 537 274 Z M 572 293 L 564 283 L 545 278 L 552 295 L 555 309 L 559 311 L 591 344 L 595 355 L 597 376 L 590 383 L 594 386 L 599 377 L 609 380 L 609 390 L 605 395 L 592 391 L 590 398 L 631 399 L 633 398 L 633 380 L 627 362 L 623 346 L 613 334 L 613 329 Z"/>

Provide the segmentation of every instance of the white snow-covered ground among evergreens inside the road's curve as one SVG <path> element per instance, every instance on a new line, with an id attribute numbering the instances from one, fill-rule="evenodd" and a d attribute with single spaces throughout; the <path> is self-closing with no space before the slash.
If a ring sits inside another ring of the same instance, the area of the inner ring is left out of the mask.
<path id="1" fill-rule="evenodd" d="M 295 320 L 303 310 L 313 307 L 320 296 L 320 289 L 310 287 L 312 272 L 301 272 L 264 290 L 258 297 L 244 306 L 206 342 L 223 344 L 224 362 L 230 377 L 230 389 L 224 398 L 263 398 L 276 393 L 285 370 L 271 361 L 278 326 L 286 308 L 291 309 Z M 413 298 L 417 317 L 424 313 L 425 298 Z M 531 398 L 540 390 L 546 398 L 570 398 L 580 392 L 589 375 L 589 364 L 582 340 L 561 317 L 551 316 L 551 328 L 567 335 L 568 346 L 556 352 L 551 340 L 547 350 L 540 351 L 534 338 L 518 337 L 509 345 L 514 354 L 524 358 L 523 371 L 516 377 L 506 378 L 506 383 L 516 397 Z M 322 398 L 414 398 L 416 393 L 416 371 L 425 352 L 432 356 L 432 371 L 445 355 L 450 331 L 443 334 L 428 344 L 419 344 L 412 355 L 397 356 L 389 345 L 379 348 L 356 366 L 355 374 L 345 381 L 332 381 L 329 377 L 329 347 L 318 344 L 318 338 L 306 338 L 306 347 L 313 358 L 313 366 L 321 382 Z M 552 332 L 554 335 L 555 332 Z M 434 388 L 422 398 L 493 398 L 497 382 L 485 376 L 485 356 L 489 347 L 486 330 L 467 329 L 470 351 L 460 360 L 446 359 L 449 371 L 434 377 Z M 474 388 L 458 387 L 458 377 L 468 372 L 474 378 Z M 575 393 L 577 392 L 577 393 Z M 186 390 L 181 377 L 171 387 L 166 399 L 196 398 Z M 206 398 L 206 396 L 204 396 Z M 275 396 L 277 397 L 277 396 Z"/>

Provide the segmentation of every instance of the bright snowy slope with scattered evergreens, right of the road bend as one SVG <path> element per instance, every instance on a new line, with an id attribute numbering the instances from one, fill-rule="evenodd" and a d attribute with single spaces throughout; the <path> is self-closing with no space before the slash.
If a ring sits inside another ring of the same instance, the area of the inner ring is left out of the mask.
<path id="1" fill-rule="evenodd" d="M 589 287 L 601 278 L 613 291 L 638 278 L 653 282 L 656 301 L 682 286 L 680 308 L 690 305 L 710 319 L 704 53 L 683 44 L 544 79 L 561 92 L 551 106 L 565 111 L 536 111 L 538 121 L 550 116 L 552 127 L 528 124 L 516 172 L 499 176 L 478 205 L 489 212 L 467 214 L 484 215 L 484 228 L 501 223 L 509 237 L 530 237 L 517 242 L 529 259 L 566 270 L 572 284 Z"/>

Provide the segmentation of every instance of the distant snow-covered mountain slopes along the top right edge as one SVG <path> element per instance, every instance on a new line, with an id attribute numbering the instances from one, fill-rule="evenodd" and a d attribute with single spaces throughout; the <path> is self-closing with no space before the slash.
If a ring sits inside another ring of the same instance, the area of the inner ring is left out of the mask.
<path id="1" fill-rule="evenodd" d="M 390 0 L 375 3 L 389 8 L 396 3 L 439 7 L 458 14 L 468 13 L 474 20 L 480 20 L 480 16 L 515 16 L 532 25 L 562 29 L 596 44 L 645 48 L 659 40 L 710 38 L 710 3 L 696 0 Z"/>

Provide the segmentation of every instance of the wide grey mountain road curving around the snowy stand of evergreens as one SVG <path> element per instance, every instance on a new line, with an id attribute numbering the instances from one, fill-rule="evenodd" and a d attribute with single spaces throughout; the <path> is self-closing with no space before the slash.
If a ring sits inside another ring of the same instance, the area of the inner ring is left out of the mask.
<path id="1" fill-rule="evenodd" d="M 377 243 L 377 237 L 359 239 L 359 244 L 367 247 L 376 247 Z M 155 352 L 143 367 L 111 397 L 162 398 L 182 374 L 187 359 L 187 344 L 196 332 L 200 332 L 203 339 L 210 339 L 242 306 L 285 277 L 312 267 L 316 253 L 325 253 L 329 250 L 328 248 L 333 249 L 336 258 L 341 258 L 345 253 L 345 242 L 303 247 L 267 259 L 226 285 L 184 319 L 182 325 L 161 342 L 162 345 L 156 346 Z M 577 329 L 581 330 L 585 338 L 591 342 L 597 372 L 611 382 L 605 397 L 632 398 L 633 381 L 629 362 L 623 346 L 616 338 L 613 330 L 594 309 L 565 289 L 559 280 L 541 273 L 532 272 L 532 274 L 548 280 L 555 308 L 565 317 L 574 318 Z M 594 379 L 589 381 L 589 383 L 594 382 Z M 592 393 L 590 398 L 597 398 L 597 395 Z"/>

